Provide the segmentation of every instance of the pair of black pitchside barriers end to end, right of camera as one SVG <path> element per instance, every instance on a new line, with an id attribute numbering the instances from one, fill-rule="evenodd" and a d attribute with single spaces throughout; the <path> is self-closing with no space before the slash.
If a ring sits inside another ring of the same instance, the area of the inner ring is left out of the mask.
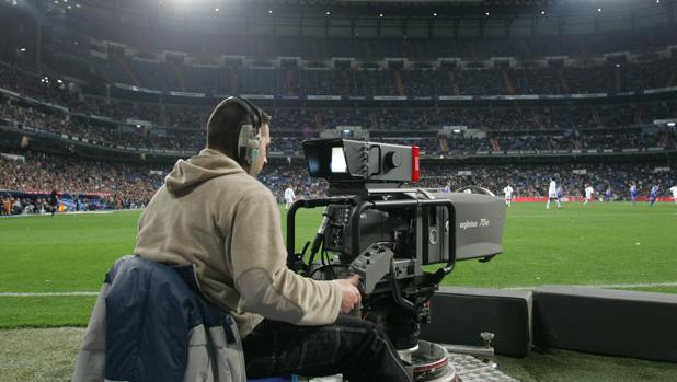
<path id="1" fill-rule="evenodd" d="M 443 287 L 421 338 L 525 357 L 537 346 L 677 362 L 677 294 L 546 286 L 531 291 Z"/>

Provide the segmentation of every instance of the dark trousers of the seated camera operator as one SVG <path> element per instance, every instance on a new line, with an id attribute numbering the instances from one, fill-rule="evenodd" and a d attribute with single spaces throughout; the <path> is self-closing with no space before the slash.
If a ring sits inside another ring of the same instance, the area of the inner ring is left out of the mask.
<path id="1" fill-rule="evenodd" d="M 386 334 L 374 323 L 341 315 L 334 324 L 299 326 L 264 320 L 242 342 L 248 378 L 280 374 L 351 382 L 411 382 Z"/>

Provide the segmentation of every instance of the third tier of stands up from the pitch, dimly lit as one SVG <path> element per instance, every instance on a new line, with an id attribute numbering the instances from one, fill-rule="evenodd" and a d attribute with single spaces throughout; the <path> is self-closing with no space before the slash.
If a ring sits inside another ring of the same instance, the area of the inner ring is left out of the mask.
<path id="1" fill-rule="evenodd" d="M 135 72 L 144 88 L 164 91 L 197 91 L 208 94 L 226 92 L 243 94 L 343 95 L 343 96 L 449 96 L 508 94 L 622 93 L 675 85 L 676 58 L 652 57 L 645 61 L 599 66 L 548 66 L 502 68 L 496 63 L 477 62 L 463 68 L 415 69 L 331 69 L 331 68 L 228 68 L 231 76 L 221 76 L 223 68 L 205 69 L 213 81 L 194 80 L 195 70 L 176 66 L 181 72 L 168 70 L 167 76 L 153 76 L 165 70 L 163 63 L 128 58 L 125 66 Z M 99 71 L 104 78 L 130 83 L 128 71 L 117 61 L 103 60 Z M 181 78 L 181 81 L 179 80 Z M 188 83 L 185 85 L 182 83 Z M 202 88 L 200 88 L 202 86 Z"/>

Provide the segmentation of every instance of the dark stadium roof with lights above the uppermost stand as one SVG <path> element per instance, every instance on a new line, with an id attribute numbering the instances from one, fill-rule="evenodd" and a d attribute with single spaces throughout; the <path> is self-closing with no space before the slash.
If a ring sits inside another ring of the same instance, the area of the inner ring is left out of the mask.
<path id="1" fill-rule="evenodd" d="M 431 37 L 618 32 L 674 22 L 676 0 L 4 0 L 90 31 Z M 56 18 L 55 18 L 56 16 Z M 509 32 L 505 32 L 509 31 Z M 449 36 L 445 32 L 444 35 Z"/>

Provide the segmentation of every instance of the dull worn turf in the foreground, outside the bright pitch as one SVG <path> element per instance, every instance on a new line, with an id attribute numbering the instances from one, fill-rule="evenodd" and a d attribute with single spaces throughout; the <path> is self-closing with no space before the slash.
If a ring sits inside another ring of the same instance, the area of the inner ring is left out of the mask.
<path id="1" fill-rule="evenodd" d="M 0 331 L 0 380 L 69 381 L 84 329 Z M 19 357 L 18 355 L 31 355 Z M 496 357 L 498 370 L 523 382 L 674 382 L 677 364 L 565 350 L 537 350 L 526 359 Z"/>

